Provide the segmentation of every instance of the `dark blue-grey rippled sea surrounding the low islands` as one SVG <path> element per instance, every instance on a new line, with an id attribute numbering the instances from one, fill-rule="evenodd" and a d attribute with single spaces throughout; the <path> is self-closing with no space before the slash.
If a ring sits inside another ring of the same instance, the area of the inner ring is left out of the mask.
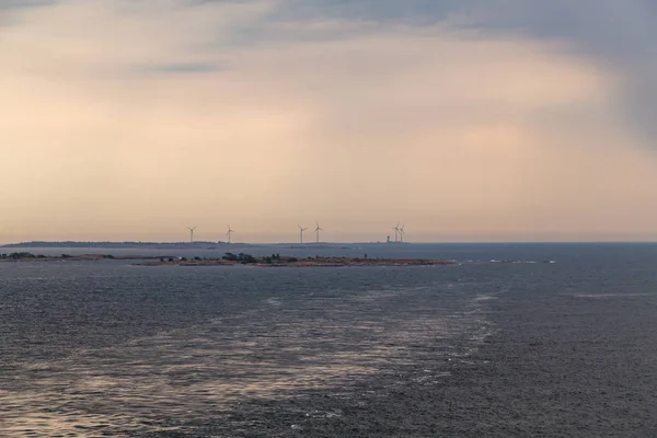
<path id="1" fill-rule="evenodd" d="M 0 263 L 0 436 L 657 436 L 657 245 L 275 252 L 464 263 Z"/>

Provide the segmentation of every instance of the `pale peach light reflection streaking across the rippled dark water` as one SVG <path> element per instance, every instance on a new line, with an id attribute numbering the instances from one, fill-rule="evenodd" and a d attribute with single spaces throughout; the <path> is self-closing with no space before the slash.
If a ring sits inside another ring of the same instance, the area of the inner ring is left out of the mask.
<path id="1" fill-rule="evenodd" d="M 286 297 L 112 347 L 11 364 L 0 430 L 129 436 L 220 418 L 244 400 L 348 392 L 359 379 L 399 366 L 417 365 L 417 382 L 436 381 L 446 374 L 437 357 L 468 356 L 488 333 L 486 297 L 448 310 L 435 286 Z"/>

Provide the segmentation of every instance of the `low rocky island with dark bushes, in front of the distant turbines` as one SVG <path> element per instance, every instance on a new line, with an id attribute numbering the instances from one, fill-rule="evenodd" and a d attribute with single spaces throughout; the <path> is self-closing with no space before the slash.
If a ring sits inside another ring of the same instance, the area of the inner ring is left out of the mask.
<path id="1" fill-rule="evenodd" d="M 272 254 L 253 256 L 250 254 L 227 253 L 221 258 L 160 258 L 142 262 L 139 266 L 256 266 L 256 267 L 341 267 L 341 266 L 442 266 L 456 262 L 428 258 L 371 258 L 364 257 L 326 257 L 315 256 L 298 258 Z"/>

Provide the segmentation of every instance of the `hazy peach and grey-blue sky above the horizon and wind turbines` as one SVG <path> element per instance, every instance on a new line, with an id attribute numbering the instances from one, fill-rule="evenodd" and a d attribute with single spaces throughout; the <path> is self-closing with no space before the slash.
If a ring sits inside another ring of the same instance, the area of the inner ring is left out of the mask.
<path id="1" fill-rule="evenodd" d="M 657 241 L 653 0 L 0 0 L 0 242 Z"/>

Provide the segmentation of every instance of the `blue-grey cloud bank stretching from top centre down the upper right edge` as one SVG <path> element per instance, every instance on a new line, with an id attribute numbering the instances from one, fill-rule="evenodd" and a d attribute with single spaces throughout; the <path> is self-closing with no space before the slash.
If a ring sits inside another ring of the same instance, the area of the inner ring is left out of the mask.
<path id="1" fill-rule="evenodd" d="M 657 3 L 652 0 L 314 0 L 288 14 L 379 25 L 447 24 L 480 38 L 495 35 L 558 42 L 622 77 L 629 126 L 648 145 L 657 137 Z"/>

